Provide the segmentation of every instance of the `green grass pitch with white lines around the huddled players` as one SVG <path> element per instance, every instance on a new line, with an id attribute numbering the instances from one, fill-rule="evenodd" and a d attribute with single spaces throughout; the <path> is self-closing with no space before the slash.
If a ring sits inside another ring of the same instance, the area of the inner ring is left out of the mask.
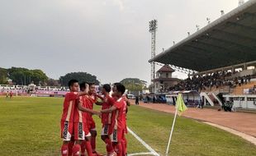
<path id="1" fill-rule="evenodd" d="M 61 98 L 0 97 L 0 155 L 60 155 L 59 121 Z M 99 109 L 100 107 L 95 107 Z M 97 150 L 105 153 L 100 140 L 101 123 L 97 124 Z M 128 126 L 159 154 L 164 155 L 173 115 L 131 106 Z M 128 153 L 149 152 L 132 135 L 127 135 Z M 249 156 L 256 155 L 255 145 L 201 122 L 178 117 L 169 155 Z"/>

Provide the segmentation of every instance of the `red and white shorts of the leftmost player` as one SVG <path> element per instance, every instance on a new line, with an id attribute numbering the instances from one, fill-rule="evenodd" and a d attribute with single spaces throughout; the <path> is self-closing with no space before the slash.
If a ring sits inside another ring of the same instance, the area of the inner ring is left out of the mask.
<path id="1" fill-rule="evenodd" d="M 73 122 L 60 122 L 61 138 L 64 141 L 70 141 L 73 134 Z"/>

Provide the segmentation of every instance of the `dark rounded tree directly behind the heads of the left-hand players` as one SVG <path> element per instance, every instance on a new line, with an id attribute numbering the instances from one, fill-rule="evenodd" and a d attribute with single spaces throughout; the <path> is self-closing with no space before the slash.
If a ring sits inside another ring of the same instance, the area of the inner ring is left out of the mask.
<path id="1" fill-rule="evenodd" d="M 68 86 L 69 80 L 75 79 L 78 80 L 79 82 L 93 82 L 96 85 L 99 85 L 99 81 L 97 80 L 96 76 L 92 76 L 91 74 L 87 72 L 70 72 L 66 74 L 65 76 L 60 76 L 59 77 L 59 82 L 61 85 Z"/>

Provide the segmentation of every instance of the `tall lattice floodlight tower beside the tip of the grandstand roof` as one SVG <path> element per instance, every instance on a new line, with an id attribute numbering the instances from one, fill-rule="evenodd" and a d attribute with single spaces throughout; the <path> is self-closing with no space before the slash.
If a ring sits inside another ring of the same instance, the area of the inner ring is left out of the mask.
<path id="1" fill-rule="evenodd" d="M 155 57 L 155 37 L 156 37 L 156 30 L 157 30 L 158 21 L 152 20 L 149 21 L 149 32 L 151 33 L 151 58 Z M 155 63 L 151 62 L 151 81 L 153 82 L 154 86 L 154 78 L 155 78 Z M 154 89 L 153 89 L 154 92 Z"/>

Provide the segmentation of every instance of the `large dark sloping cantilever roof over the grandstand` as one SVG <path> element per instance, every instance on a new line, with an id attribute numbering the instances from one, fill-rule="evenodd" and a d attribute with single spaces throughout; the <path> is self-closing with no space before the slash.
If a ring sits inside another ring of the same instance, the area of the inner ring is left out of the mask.
<path id="1" fill-rule="evenodd" d="M 149 62 L 208 71 L 256 61 L 256 0 L 221 16 Z"/>

